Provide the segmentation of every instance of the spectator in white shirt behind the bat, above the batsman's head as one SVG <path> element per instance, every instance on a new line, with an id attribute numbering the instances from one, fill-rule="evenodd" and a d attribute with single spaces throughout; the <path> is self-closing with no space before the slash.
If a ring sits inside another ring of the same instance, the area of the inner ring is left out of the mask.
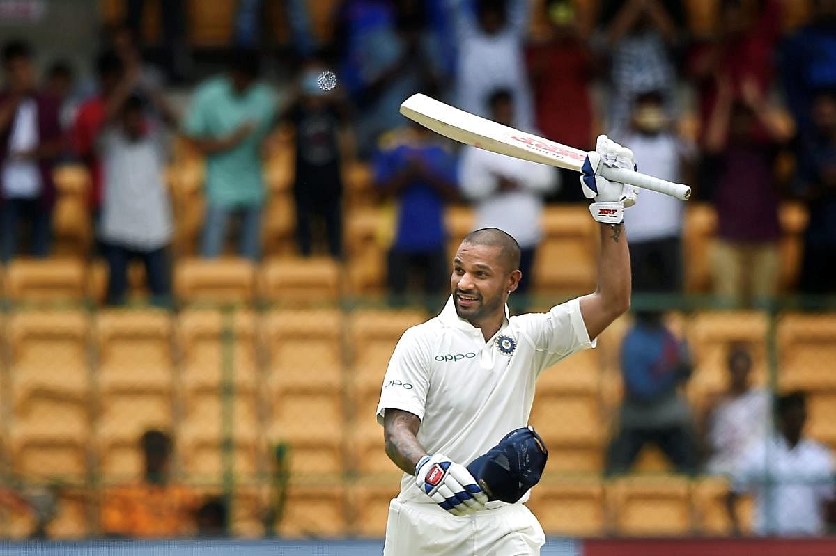
<path id="1" fill-rule="evenodd" d="M 492 119 L 511 125 L 514 102 L 506 89 L 491 94 Z M 532 287 L 534 254 L 542 235 L 543 196 L 555 188 L 558 173 L 544 164 L 466 147 L 461 155 L 460 181 L 462 193 L 476 203 L 474 229 L 499 228 L 520 245 L 523 278 L 517 294 L 524 296 Z"/>

